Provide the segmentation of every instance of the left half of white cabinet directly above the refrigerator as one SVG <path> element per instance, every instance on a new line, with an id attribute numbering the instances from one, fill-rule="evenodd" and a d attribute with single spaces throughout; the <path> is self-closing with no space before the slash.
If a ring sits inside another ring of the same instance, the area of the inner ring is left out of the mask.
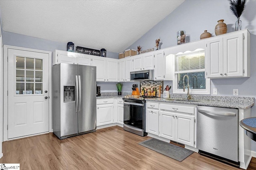
<path id="1" fill-rule="evenodd" d="M 53 54 L 52 64 L 55 65 L 60 63 L 76 64 L 76 53 L 69 52 L 69 51 L 55 50 Z"/>

